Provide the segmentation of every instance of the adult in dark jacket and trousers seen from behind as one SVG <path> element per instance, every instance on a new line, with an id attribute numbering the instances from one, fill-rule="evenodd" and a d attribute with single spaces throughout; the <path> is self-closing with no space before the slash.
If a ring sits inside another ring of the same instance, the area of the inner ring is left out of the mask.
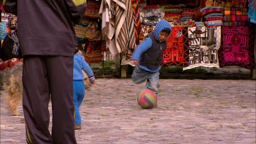
<path id="1" fill-rule="evenodd" d="M 73 66 L 76 35 L 86 0 L 4 0 L 18 19 L 23 55 L 23 112 L 27 143 L 76 143 Z M 48 130 L 51 100 L 52 130 Z"/>

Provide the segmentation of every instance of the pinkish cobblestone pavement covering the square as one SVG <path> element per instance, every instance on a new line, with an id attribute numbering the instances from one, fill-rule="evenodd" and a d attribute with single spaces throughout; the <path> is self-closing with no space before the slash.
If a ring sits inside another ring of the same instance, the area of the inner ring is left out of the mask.
<path id="1" fill-rule="evenodd" d="M 77 142 L 255 143 L 255 81 L 160 79 L 158 107 L 149 110 L 137 105 L 144 85 L 98 78 L 81 106 Z M 23 116 L 10 114 L 1 92 L 1 144 L 25 143 Z"/>

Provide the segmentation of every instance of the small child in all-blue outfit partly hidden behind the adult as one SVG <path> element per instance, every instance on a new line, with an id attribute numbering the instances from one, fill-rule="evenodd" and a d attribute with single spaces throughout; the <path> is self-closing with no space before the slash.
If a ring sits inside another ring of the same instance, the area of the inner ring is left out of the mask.
<path id="1" fill-rule="evenodd" d="M 74 116 L 75 116 L 75 130 L 81 129 L 81 115 L 79 107 L 85 97 L 85 84 L 83 83 L 83 72 L 89 77 L 91 85 L 95 84 L 94 72 L 91 70 L 89 64 L 79 55 L 79 49 L 76 48 L 74 55 L 74 73 L 73 73 L 73 87 L 74 87 Z"/>

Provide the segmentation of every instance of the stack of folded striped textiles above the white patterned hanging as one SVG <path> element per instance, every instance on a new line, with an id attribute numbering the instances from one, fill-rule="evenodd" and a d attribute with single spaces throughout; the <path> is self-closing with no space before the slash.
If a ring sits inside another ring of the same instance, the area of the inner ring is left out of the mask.
<path id="1" fill-rule="evenodd" d="M 223 8 L 205 7 L 200 9 L 205 27 L 217 27 L 223 25 Z"/>

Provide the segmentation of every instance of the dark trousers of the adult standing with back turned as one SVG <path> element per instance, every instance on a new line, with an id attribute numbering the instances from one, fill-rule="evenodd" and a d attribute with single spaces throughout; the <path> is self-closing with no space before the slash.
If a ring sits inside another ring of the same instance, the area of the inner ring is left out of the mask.
<path id="1" fill-rule="evenodd" d="M 27 143 L 76 143 L 74 134 L 73 57 L 25 56 L 23 111 Z M 48 130 L 51 100 L 52 132 Z"/>

